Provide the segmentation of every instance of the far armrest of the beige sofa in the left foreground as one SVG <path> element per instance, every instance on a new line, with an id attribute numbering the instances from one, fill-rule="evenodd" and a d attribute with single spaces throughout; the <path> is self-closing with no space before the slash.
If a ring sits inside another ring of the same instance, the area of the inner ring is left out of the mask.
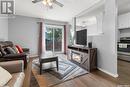
<path id="1" fill-rule="evenodd" d="M 6 69 L 8 72 L 19 73 L 24 71 L 24 63 L 22 60 L 0 62 L 0 66 Z"/>

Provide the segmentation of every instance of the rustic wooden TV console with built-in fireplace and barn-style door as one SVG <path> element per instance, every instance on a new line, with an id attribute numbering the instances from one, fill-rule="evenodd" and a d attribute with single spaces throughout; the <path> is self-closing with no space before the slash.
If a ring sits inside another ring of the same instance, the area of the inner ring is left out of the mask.
<path id="1" fill-rule="evenodd" d="M 91 72 L 97 69 L 97 48 L 68 46 L 68 59 Z"/>

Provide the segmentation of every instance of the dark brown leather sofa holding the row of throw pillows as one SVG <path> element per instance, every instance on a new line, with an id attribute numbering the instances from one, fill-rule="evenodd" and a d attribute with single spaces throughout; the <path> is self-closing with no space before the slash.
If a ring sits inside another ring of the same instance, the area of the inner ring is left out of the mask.
<path id="1" fill-rule="evenodd" d="M 14 44 L 11 41 L 0 41 L 0 51 L 2 51 L 2 48 L 6 47 L 13 47 Z M 27 50 L 28 49 L 24 49 Z M 29 51 L 29 50 L 28 50 Z M 17 54 L 5 54 L 0 57 L 0 62 L 2 61 L 14 61 L 14 60 L 23 60 L 24 61 L 24 68 L 27 67 L 27 54 L 24 53 L 17 53 Z"/>

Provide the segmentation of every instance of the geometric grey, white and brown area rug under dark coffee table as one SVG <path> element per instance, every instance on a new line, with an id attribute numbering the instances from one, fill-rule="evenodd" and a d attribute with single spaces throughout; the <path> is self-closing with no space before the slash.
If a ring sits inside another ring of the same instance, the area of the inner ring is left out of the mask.
<path id="1" fill-rule="evenodd" d="M 45 64 L 43 65 L 43 69 L 47 69 L 47 70 L 44 70 L 41 76 L 46 78 L 48 87 L 60 84 L 62 82 L 74 79 L 76 77 L 79 77 L 81 75 L 85 75 L 88 73 L 88 71 L 77 66 L 71 61 L 61 58 L 59 56 L 58 58 L 59 58 L 59 71 L 57 71 L 56 68 L 52 68 L 52 69 L 46 68 L 46 66 L 54 67 L 55 63 L 47 63 L 46 65 Z M 39 60 L 38 59 L 33 60 L 33 71 L 39 74 Z"/>

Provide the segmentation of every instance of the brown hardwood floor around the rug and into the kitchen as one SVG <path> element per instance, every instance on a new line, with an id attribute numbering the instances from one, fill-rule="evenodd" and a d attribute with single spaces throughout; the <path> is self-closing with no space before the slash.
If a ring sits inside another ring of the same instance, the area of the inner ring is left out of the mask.
<path id="1" fill-rule="evenodd" d="M 96 70 L 84 76 L 55 85 L 54 87 L 118 87 L 118 85 L 130 84 L 130 63 L 119 60 L 118 72 L 119 77 L 113 78 L 99 70 Z M 40 87 L 47 87 L 47 82 L 45 78 L 41 77 L 40 75 L 35 75 L 35 73 L 34 76 L 37 79 Z"/>

